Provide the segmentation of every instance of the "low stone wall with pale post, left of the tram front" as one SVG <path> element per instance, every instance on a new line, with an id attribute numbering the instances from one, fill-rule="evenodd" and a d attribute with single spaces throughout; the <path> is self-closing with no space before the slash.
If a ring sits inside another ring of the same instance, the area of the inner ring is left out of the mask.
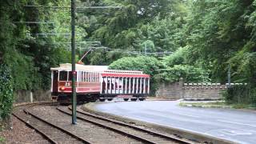
<path id="1" fill-rule="evenodd" d="M 17 90 L 14 103 L 50 101 L 50 90 Z"/>

